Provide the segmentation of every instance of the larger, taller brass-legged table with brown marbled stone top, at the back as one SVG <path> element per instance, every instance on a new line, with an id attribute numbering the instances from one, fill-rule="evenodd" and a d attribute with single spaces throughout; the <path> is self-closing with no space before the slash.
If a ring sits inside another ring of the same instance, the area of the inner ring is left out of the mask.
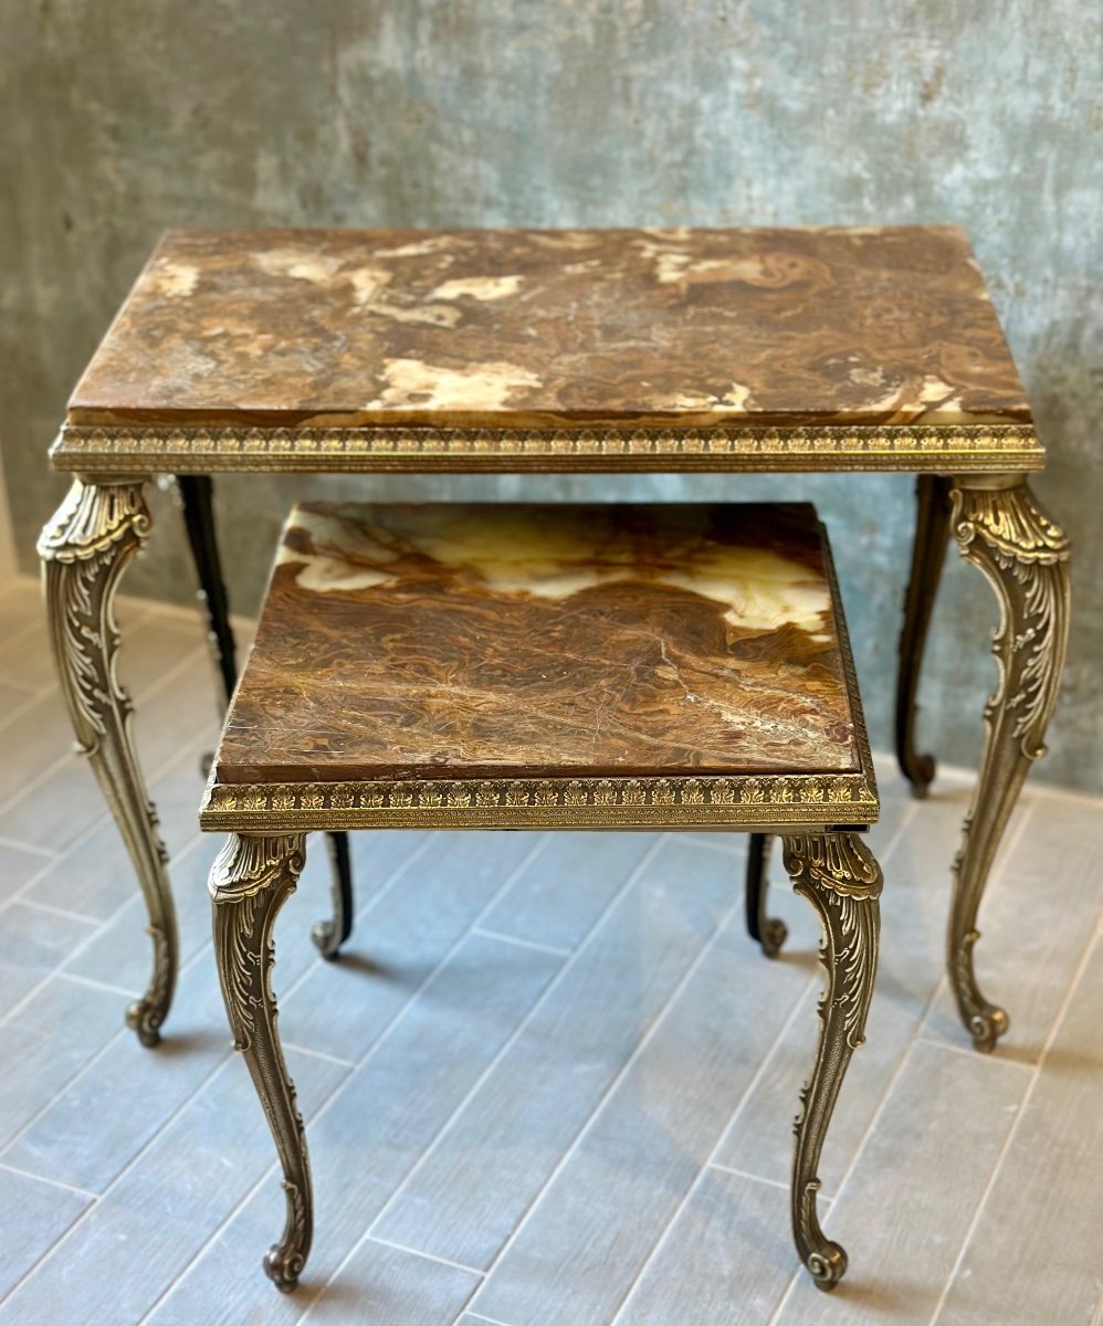
<path id="1" fill-rule="evenodd" d="M 1006 1029 L 973 969 L 977 910 L 1057 699 L 1069 544 L 1027 487 L 1045 453 L 961 231 L 174 231 L 50 456 L 74 479 L 40 541 L 53 644 L 146 896 L 152 975 L 130 1014 L 146 1044 L 176 930 L 111 599 L 160 472 L 182 480 L 228 684 L 212 475 L 847 471 L 862 511 L 856 472 L 917 475 L 898 753 L 921 794 L 915 696 L 953 532 L 1002 623 L 947 965 L 974 1044 Z"/>

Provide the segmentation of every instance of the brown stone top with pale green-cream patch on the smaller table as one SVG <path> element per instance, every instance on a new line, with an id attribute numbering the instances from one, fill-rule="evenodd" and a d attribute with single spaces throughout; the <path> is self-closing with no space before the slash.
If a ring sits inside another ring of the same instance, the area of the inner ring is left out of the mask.
<path id="1" fill-rule="evenodd" d="M 809 505 L 301 505 L 215 781 L 854 772 L 838 611 Z"/>

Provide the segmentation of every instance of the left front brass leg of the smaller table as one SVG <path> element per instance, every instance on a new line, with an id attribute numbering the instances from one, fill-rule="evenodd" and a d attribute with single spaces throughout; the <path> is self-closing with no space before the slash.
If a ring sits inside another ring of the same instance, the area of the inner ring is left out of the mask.
<path id="1" fill-rule="evenodd" d="M 304 834 L 231 834 L 211 867 L 209 886 L 215 961 L 233 1048 L 245 1058 L 284 1167 L 286 1221 L 264 1258 L 265 1273 L 284 1292 L 302 1274 L 314 1215 L 306 1134 L 276 1026 L 272 927 L 305 861 Z"/>

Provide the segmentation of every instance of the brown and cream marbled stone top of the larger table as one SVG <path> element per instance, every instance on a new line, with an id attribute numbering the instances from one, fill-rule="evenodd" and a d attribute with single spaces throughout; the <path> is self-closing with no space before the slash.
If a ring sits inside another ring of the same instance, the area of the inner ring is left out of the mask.
<path id="1" fill-rule="evenodd" d="M 170 231 L 73 424 L 1023 423 L 962 231 Z"/>

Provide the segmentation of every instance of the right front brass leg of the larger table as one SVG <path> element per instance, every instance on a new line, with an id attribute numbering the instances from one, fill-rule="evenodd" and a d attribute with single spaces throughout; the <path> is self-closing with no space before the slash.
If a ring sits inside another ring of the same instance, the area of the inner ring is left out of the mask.
<path id="1" fill-rule="evenodd" d="M 981 994 L 973 972 L 977 910 L 1016 798 L 1045 753 L 1069 639 L 1069 540 L 1021 475 L 960 477 L 953 532 L 1000 599 L 993 654 L 1000 668 L 985 707 L 985 743 L 965 837 L 955 862 L 947 961 L 961 1020 L 978 1050 L 992 1050 L 1008 1014 Z"/>

